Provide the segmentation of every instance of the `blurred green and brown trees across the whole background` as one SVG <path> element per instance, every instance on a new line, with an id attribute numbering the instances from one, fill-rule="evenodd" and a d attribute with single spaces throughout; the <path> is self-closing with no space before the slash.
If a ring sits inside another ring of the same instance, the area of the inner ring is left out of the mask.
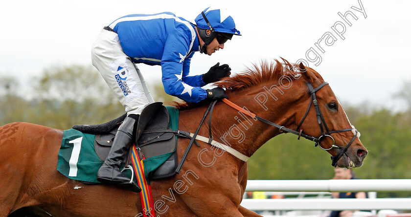
<path id="1" fill-rule="evenodd" d="M 12 77 L 0 77 L 0 126 L 24 121 L 57 129 L 75 124 L 104 123 L 124 113 L 110 88 L 92 66 L 51 66 L 30 79 L 27 94 Z M 162 84 L 149 85 L 156 101 L 178 100 L 165 94 Z M 29 96 L 29 97 L 27 97 Z M 366 103 L 344 106 L 351 123 L 361 132 L 369 153 L 364 166 L 355 168 L 362 179 L 411 178 L 411 82 L 395 95 L 408 109 L 392 112 L 370 109 Z M 283 134 L 268 141 L 249 160 L 249 179 L 331 179 L 330 155 L 308 140 Z M 411 196 L 379 193 L 379 196 Z"/>

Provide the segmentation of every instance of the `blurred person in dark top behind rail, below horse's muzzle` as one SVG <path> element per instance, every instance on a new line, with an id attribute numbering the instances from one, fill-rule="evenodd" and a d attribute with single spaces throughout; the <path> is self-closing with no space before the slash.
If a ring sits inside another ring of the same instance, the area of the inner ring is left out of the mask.
<path id="1" fill-rule="evenodd" d="M 335 168 L 333 179 L 358 179 L 352 169 Z M 366 198 L 365 192 L 333 192 L 333 198 Z M 330 217 L 350 217 L 358 210 L 332 211 Z"/>

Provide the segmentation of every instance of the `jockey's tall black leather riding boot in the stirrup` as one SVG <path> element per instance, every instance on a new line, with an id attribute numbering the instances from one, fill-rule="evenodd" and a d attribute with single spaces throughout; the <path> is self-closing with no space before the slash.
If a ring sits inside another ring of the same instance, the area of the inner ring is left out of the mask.
<path id="1" fill-rule="evenodd" d="M 110 152 L 97 172 L 97 180 L 99 182 L 131 185 L 131 187 L 133 187 L 131 189 L 132 191 L 141 191 L 135 182 L 130 184 L 130 178 L 124 176 L 124 174 L 119 171 L 120 165 L 124 162 L 124 158 L 132 143 L 133 131 L 136 123 L 137 121 L 134 118 L 126 117 L 118 128 Z"/>

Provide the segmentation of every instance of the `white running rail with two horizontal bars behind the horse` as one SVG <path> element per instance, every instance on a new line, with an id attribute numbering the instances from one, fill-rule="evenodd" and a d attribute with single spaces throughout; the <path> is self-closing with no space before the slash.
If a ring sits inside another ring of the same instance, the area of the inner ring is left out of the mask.
<path id="1" fill-rule="evenodd" d="M 411 191 L 411 179 L 248 180 L 246 191 L 396 192 Z M 411 210 L 411 198 L 243 199 L 250 210 Z"/>

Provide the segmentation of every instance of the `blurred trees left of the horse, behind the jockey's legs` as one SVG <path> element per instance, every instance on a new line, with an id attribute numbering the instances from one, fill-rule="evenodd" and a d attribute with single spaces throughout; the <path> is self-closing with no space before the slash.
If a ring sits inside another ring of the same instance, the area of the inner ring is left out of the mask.
<path id="1" fill-rule="evenodd" d="M 30 79 L 26 98 L 16 94 L 21 86 L 12 77 L 0 77 L 0 126 L 23 121 L 65 130 L 76 124 L 104 123 L 125 113 L 92 66 L 50 66 Z M 167 95 L 161 83 L 149 88 L 156 101 L 179 100 Z"/>

